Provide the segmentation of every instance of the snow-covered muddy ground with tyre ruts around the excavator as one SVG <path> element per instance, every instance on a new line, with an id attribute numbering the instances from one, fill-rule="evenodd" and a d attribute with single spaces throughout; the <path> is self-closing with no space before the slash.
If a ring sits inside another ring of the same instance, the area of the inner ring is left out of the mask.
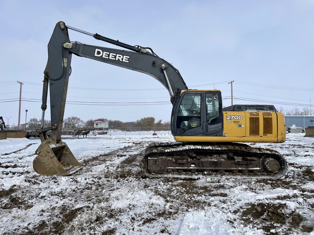
<path id="1" fill-rule="evenodd" d="M 148 144 L 168 132 L 63 138 L 84 167 L 43 176 L 32 167 L 39 139 L 0 140 L 0 234 L 314 234 L 314 138 L 287 134 L 283 180 L 142 179 Z"/>

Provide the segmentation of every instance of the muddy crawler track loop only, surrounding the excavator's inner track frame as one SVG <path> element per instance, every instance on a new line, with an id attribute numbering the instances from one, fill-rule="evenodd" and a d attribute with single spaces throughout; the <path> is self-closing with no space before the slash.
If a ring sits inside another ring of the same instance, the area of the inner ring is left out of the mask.
<path id="1" fill-rule="evenodd" d="M 160 156 L 160 158 L 172 158 L 173 155 L 187 155 L 189 151 L 202 151 L 207 153 L 217 152 L 225 153 L 232 152 L 234 154 L 240 155 L 250 155 L 251 157 L 256 157 L 263 161 L 263 158 L 271 157 L 280 162 L 280 169 L 277 172 L 269 173 L 266 171 L 249 171 L 238 170 L 237 173 L 231 171 L 221 173 L 217 172 L 168 172 L 165 171 L 164 174 L 151 174 L 147 170 L 147 159 L 149 156 Z M 245 178 L 258 178 L 258 179 L 282 179 L 284 178 L 288 165 L 286 159 L 279 152 L 272 149 L 263 149 L 263 148 L 254 148 L 247 144 L 242 143 L 197 143 L 197 142 L 175 142 L 175 143 L 162 143 L 162 144 L 150 144 L 146 150 L 145 155 L 143 156 L 141 163 L 142 175 L 149 178 L 161 178 L 161 177 L 177 177 L 177 178 L 199 178 L 200 176 L 225 176 L 225 177 L 245 177 Z"/>

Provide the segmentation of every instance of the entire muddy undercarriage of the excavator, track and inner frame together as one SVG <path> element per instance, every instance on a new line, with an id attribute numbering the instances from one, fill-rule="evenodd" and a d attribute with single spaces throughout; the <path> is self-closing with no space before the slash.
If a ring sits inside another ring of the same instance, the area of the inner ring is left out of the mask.
<path id="1" fill-rule="evenodd" d="M 277 151 L 240 143 L 151 144 L 141 160 L 149 178 L 227 176 L 281 179 L 287 162 Z"/>

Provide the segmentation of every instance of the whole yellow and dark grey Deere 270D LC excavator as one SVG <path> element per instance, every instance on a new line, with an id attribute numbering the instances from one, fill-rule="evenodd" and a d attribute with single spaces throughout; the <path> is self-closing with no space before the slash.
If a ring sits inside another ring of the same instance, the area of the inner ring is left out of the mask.
<path id="1" fill-rule="evenodd" d="M 69 29 L 114 44 L 122 50 L 71 41 Z M 273 105 L 223 107 L 221 91 L 188 89 L 179 70 L 151 48 L 88 33 L 62 21 L 56 24 L 48 43 L 42 124 L 36 130 L 41 144 L 33 161 L 35 172 L 71 175 L 82 167 L 61 139 L 72 55 L 148 74 L 169 91 L 173 105 L 171 133 L 176 142 L 149 145 L 140 161 L 142 176 L 189 178 L 222 175 L 280 179 L 286 174 L 287 162 L 277 151 L 244 144 L 285 141 L 284 115 Z M 43 128 L 48 85 L 51 127 Z M 49 137 L 47 131 L 51 131 Z"/>

